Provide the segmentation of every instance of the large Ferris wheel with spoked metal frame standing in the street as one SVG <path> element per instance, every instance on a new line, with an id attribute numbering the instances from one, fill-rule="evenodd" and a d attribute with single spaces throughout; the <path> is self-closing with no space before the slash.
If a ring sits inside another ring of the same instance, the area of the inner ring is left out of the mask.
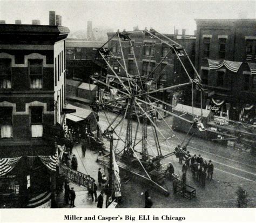
<path id="1" fill-rule="evenodd" d="M 139 71 L 138 58 L 136 58 L 132 39 L 129 36 L 137 32 L 143 33 L 144 37 L 158 39 L 161 43 L 169 47 L 166 56 L 146 76 L 143 76 Z M 114 37 L 118 38 L 117 44 L 120 49 L 121 59 L 117 58 L 111 49 L 106 46 Z M 160 160 L 174 154 L 177 155 L 178 152 L 185 156 L 182 145 L 185 144 L 186 138 L 180 139 L 177 133 L 173 132 L 171 125 L 165 120 L 164 116 L 176 117 L 190 123 L 191 127 L 203 128 L 200 117 L 194 117 L 193 114 L 194 87 L 200 92 L 204 90 L 201 85 L 201 78 L 188 57 L 186 50 L 179 43 L 156 30 L 117 31 L 112 38 L 98 50 L 100 59 L 107 65 L 104 69 L 106 73 L 95 73 L 91 76 L 93 83 L 96 83 L 99 89 L 102 89 L 99 90 L 100 93 L 97 102 L 92 106 L 93 110 L 97 113 L 104 113 L 105 120 L 107 121 L 107 125 L 100 126 L 99 120 L 99 130 L 103 138 L 105 138 L 105 144 L 109 140 L 109 132 L 111 131 L 113 133 L 117 141 L 112 146 L 117 157 L 116 159 L 118 160 L 118 165 L 121 168 L 149 180 L 154 186 L 160 188 L 161 191 L 168 193 L 167 188 L 164 186 L 163 178 L 161 178 L 164 171 L 161 167 Z M 127 46 L 130 48 L 137 67 L 134 73 L 129 73 L 127 70 L 123 52 L 123 49 Z M 152 85 L 159 82 L 163 74 L 163 70 L 156 73 L 158 67 L 161 66 L 170 53 L 173 53 L 178 58 L 179 63 L 186 73 L 188 82 L 161 89 L 152 87 Z M 194 73 L 188 73 L 184 65 L 184 59 L 188 60 Z M 125 73 L 125 76 L 118 75 L 117 70 L 113 66 L 115 63 Z M 194 78 L 194 75 L 196 78 Z M 192 91 L 192 119 L 184 118 L 183 114 L 186 112 L 182 110 L 180 110 L 182 112 L 180 115 L 173 113 L 171 110 L 173 107 L 172 104 L 152 96 L 152 94 L 160 91 L 165 92 L 166 90 L 180 89 L 185 86 L 190 86 Z M 159 106 L 159 104 L 162 106 Z M 107 107 L 118 109 L 118 113 L 115 116 L 113 114 L 111 116 L 106 111 Z M 173 144 L 173 139 L 178 142 L 180 151 L 177 151 L 177 147 Z M 189 143 L 190 139 L 188 139 L 186 144 Z"/>

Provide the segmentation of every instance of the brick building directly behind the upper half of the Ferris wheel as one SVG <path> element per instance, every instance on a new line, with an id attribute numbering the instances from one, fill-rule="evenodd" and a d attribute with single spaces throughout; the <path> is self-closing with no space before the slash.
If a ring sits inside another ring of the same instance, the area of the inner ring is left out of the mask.
<path id="1" fill-rule="evenodd" d="M 112 38 L 114 36 L 114 32 L 108 32 L 108 38 Z M 157 36 L 159 34 L 156 34 Z M 183 30 L 183 35 L 178 35 L 178 30 L 176 34 L 166 34 L 168 38 L 173 39 L 177 43 L 181 44 L 188 55 L 190 56 L 192 62 L 194 62 L 194 48 L 196 43 L 196 38 L 194 36 L 185 35 L 185 30 Z M 157 38 L 151 38 L 149 35 L 144 35 L 143 32 L 131 32 L 129 33 L 129 37 L 132 40 L 134 55 L 137 60 L 138 70 L 141 76 L 147 76 L 154 70 L 154 67 L 158 66 L 161 63 L 161 60 L 167 55 L 167 52 L 170 50 L 170 46 L 162 43 L 161 40 Z M 161 36 L 159 36 L 161 37 Z M 162 38 L 162 37 L 161 37 Z M 166 42 L 172 44 L 170 40 L 165 39 Z M 137 66 L 134 62 L 134 57 L 132 53 L 132 48 L 129 46 L 129 41 L 122 40 L 123 53 L 125 58 L 125 63 L 127 67 L 127 71 L 130 75 L 137 75 Z M 120 45 L 118 37 L 113 37 L 109 43 L 108 48 L 111 50 L 113 55 L 119 60 L 121 64 L 123 64 L 122 54 L 120 51 Z M 183 61 L 188 73 L 191 73 L 193 76 L 193 69 L 189 65 L 188 61 Z M 110 60 L 113 70 L 120 76 L 125 77 L 125 71 L 121 69 L 120 65 L 116 61 L 116 59 Z M 179 83 L 188 82 L 188 78 L 185 75 L 185 71 L 178 61 L 175 53 L 169 53 L 169 55 L 164 59 L 164 61 L 157 67 L 156 71 L 152 76 L 152 79 L 157 76 L 158 73 L 161 73 L 161 77 L 158 83 L 153 83 L 153 88 L 163 88 L 167 86 L 172 86 Z M 158 93 L 157 97 L 169 101 L 172 103 L 172 91 L 167 90 L 167 94 L 163 94 L 163 92 Z M 190 102 L 187 102 L 190 104 Z"/>

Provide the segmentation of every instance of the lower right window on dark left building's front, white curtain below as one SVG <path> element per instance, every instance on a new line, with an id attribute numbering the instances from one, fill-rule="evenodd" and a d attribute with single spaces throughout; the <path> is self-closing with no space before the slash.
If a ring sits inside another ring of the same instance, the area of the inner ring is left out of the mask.
<path id="1" fill-rule="evenodd" d="M 30 107 L 31 137 L 43 136 L 43 107 Z"/>

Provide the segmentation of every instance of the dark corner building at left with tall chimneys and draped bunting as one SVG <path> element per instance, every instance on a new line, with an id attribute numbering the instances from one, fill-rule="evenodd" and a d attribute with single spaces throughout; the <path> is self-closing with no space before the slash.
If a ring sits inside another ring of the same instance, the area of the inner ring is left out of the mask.
<path id="1" fill-rule="evenodd" d="M 64 121 L 65 39 L 69 33 L 53 20 L 51 25 L 0 24 L 2 202 L 4 195 L 12 195 L 24 205 L 29 197 L 50 191 L 53 181 L 39 156 L 56 152 L 54 141 L 45 138 L 49 135 L 45 127 Z"/>

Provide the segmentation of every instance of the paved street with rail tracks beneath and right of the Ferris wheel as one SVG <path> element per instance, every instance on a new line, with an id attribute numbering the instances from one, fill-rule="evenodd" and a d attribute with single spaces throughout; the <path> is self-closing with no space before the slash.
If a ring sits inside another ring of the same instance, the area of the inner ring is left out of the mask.
<path id="1" fill-rule="evenodd" d="M 105 115 L 106 114 L 106 115 Z M 111 112 L 101 112 L 99 118 L 99 124 L 101 129 L 104 131 L 109 125 L 109 122 L 113 120 L 116 114 Z M 117 124 L 120 120 L 120 117 L 114 121 L 114 124 Z M 120 140 L 117 140 L 114 143 L 117 151 L 121 151 L 124 147 L 125 132 L 126 132 L 126 119 L 119 124 L 116 131 L 116 138 L 120 137 Z M 167 123 L 172 123 L 172 117 L 166 118 Z M 115 126 L 113 124 L 113 126 Z M 170 137 L 170 129 L 164 127 L 164 121 L 158 120 L 157 125 L 160 128 L 163 136 L 165 138 Z M 133 123 L 133 137 L 136 132 L 137 124 Z M 147 143 L 153 144 L 154 139 L 150 136 L 151 127 L 148 127 L 148 136 Z M 139 131 L 137 138 L 141 138 L 141 131 Z M 171 133 L 172 135 L 173 133 Z M 179 140 L 183 140 L 185 133 L 175 132 L 179 137 Z M 176 137 L 171 139 L 164 140 L 162 136 L 158 136 L 161 152 L 164 154 L 174 151 L 179 143 L 179 140 Z M 187 137 L 186 140 L 190 138 Z M 186 143 L 186 142 L 185 142 Z M 106 142 L 106 146 L 108 143 Z M 149 154 L 156 154 L 153 145 L 149 150 Z M 137 151 L 140 150 L 141 143 L 135 147 Z M 180 196 L 174 196 L 172 194 L 172 183 L 170 181 L 169 191 L 171 192 L 169 197 L 164 197 L 164 195 L 158 194 L 155 190 L 150 190 L 150 194 L 153 200 L 153 207 L 236 207 L 236 194 L 238 186 L 242 186 L 248 192 L 249 206 L 255 207 L 256 204 L 256 161 L 255 158 L 247 152 L 239 152 L 221 146 L 220 144 L 213 143 L 212 141 L 207 141 L 199 138 L 192 138 L 190 143 L 187 146 L 187 150 L 190 151 L 191 156 L 193 154 L 201 154 L 201 156 L 208 160 L 212 160 L 214 165 L 213 180 L 206 181 L 206 187 L 202 188 L 199 183 L 192 179 L 191 171 L 187 172 L 187 184 L 197 189 L 196 199 L 187 200 L 181 198 Z M 117 152 L 116 151 L 116 152 Z M 164 166 L 171 161 L 174 166 L 174 170 L 181 176 L 181 164 L 178 164 L 178 159 L 175 156 L 168 157 L 161 160 L 161 163 Z M 120 207 L 143 207 L 144 197 L 140 193 L 148 189 L 148 183 L 138 183 L 137 177 L 134 177 L 127 183 L 122 184 L 122 194 L 123 194 L 123 204 Z M 136 190 L 134 190 L 136 188 Z M 141 198 L 141 199 L 139 199 Z"/>

